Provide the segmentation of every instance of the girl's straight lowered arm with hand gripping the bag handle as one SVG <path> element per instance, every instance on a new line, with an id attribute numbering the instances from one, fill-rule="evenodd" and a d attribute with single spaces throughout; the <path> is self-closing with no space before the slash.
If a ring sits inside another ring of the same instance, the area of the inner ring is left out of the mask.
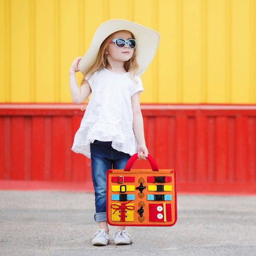
<path id="1" fill-rule="evenodd" d="M 138 146 L 137 146 L 138 159 L 146 160 L 146 157 L 148 155 L 148 150 L 146 147 L 143 118 L 142 118 L 142 113 L 140 109 L 140 92 L 135 93 L 131 99 L 132 99 L 132 109 L 133 109 L 133 116 L 134 116 L 133 128 L 134 128 L 134 134 L 138 143 Z"/>

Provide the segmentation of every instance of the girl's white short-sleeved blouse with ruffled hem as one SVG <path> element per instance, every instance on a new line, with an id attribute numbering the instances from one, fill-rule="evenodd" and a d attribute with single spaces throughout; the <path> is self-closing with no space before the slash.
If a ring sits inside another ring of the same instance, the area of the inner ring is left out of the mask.
<path id="1" fill-rule="evenodd" d="M 133 79 L 129 72 L 119 74 L 103 69 L 87 81 L 92 93 L 72 150 L 90 158 L 90 143 L 112 141 L 114 149 L 132 156 L 136 153 L 137 141 L 131 97 L 144 91 L 141 79 L 138 76 Z"/>

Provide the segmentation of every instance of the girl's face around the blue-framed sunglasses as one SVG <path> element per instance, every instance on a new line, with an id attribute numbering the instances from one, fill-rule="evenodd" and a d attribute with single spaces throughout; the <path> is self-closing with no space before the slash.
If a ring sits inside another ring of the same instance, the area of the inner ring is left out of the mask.
<path id="1" fill-rule="evenodd" d="M 125 40 L 132 39 L 132 34 L 129 31 L 122 30 L 114 33 L 111 37 L 110 40 L 116 39 L 116 38 L 123 38 Z M 108 61 L 129 61 L 133 54 L 134 54 L 134 49 L 130 49 L 129 46 L 125 45 L 124 48 L 120 49 L 116 47 L 115 43 L 110 43 L 107 47 L 107 50 L 105 52 L 107 55 Z"/>

